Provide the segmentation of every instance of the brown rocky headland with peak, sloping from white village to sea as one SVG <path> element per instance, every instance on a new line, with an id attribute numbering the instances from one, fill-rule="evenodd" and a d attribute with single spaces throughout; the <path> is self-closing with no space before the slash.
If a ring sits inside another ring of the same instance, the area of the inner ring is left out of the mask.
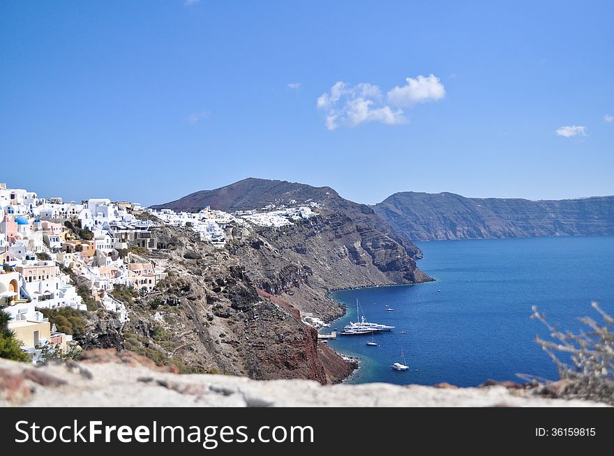
<path id="1" fill-rule="evenodd" d="M 87 347 L 109 347 L 115 340 L 117 349 L 177 364 L 184 372 L 320 383 L 347 377 L 354 365 L 318 343 L 301 313 L 328 321 L 343 315 L 345 309 L 327 297 L 333 289 L 431 280 L 416 267 L 414 258 L 421 255 L 416 245 L 371 208 L 331 188 L 246 179 L 163 206 L 194 211 L 208 204 L 236 211 L 306 201 L 319 205 L 319 215 L 285 227 L 234 222 L 222 249 L 190 229 L 156 229 L 173 247 L 154 252 L 152 259 L 170 277 L 153 293 L 128 299 L 126 342 L 117 335 L 97 337 L 96 328 L 106 327 L 97 323 Z"/>

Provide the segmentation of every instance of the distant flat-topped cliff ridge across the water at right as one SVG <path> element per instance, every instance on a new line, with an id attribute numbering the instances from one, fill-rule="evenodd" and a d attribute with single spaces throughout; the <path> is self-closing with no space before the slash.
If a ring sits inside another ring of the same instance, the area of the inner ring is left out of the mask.
<path id="1" fill-rule="evenodd" d="M 530 201 L 402 192 L 373 210 L 413 241 L 614 235 L 614 197 Z"/>

